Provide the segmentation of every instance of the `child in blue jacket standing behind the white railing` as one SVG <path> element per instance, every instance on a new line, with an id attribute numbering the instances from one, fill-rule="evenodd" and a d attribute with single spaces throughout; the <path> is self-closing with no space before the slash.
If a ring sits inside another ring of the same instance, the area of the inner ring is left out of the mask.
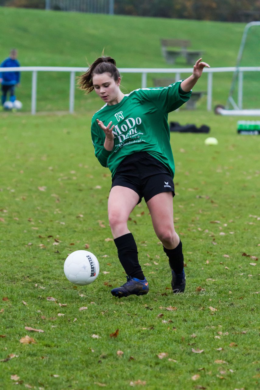
<path id="1" fill-rule="evenodd" d="M 10 52 L 10 56 L 2 62 L 0 67 L 7 68 L 7 67 L 20 66 L 16 58 L 17 58 L 17 50 L 13 49 Z M 18 71 L 0 72 L 0 83 L 2 89 L 2 97 L 1 97 L 2 105 L 4 105 L 6 101 L 7 92 L 9 92 L 10 94 L 10 101 L 12 103 L 16 100 L 15 87 L 19 85 L 19 82 L 20 82 L 20 72 Z"/>

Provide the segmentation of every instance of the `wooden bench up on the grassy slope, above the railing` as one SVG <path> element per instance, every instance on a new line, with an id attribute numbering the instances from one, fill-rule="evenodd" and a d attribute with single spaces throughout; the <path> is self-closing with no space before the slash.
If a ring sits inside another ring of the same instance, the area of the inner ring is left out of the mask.
<path id="1" fill-rule="evenodd" d="M 188 39 L 161 39 L 160 41 L 162 55 L 168 64 L 174 64 L 176 58 L 182 55 L 187 64 L 194 65 L 203 53 L 202 50 L 188 49 L 191 46 L 191 41 Z"/>

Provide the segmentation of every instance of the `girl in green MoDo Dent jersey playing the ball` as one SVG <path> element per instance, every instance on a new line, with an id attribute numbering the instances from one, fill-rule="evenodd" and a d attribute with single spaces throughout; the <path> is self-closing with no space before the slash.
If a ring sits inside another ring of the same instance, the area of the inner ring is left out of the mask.
<path id="1" fill-rule="evenodd" d="M 120 90 L 121 77 L 111 57 L 97 58 L 80 76 L 81 89 L 95 90 L 105 103 L 92 118 L 91 136 L 95 156 L 112 174 L 108 219 L 127 275 L 127 282 L 111 291 L 119 298 L 149 291 L 133 234 L 127 227 L 129 215 L 142 197 L 169 259 L 173 293 L 184 292 L 182 243 L 173 225 L 174 160 L 168 113 L 189 99 L 205 66 L 209 67 L 200 58 L 186 80 L 129 94 Z"/>

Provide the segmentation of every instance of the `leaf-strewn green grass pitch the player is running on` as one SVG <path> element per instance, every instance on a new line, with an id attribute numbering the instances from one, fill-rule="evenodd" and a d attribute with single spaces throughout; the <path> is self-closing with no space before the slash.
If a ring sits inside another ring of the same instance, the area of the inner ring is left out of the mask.
<path id="1" fill-rule="evenodd" d="M 129 229 L 150 292 L 117 300 L 110 290 L 125 276 L 108 226 L 110 174 L 94 157 L 90 119 L 2 114 L 0 388 L 258 389 L 258 138 L 237 135 L 236 118 L 170 114 L 208 124 L 219 141 L 172 134 L 186 292 L 171 293 L 141 202 Z M 75 287 L 63 263 L 86 245 L 101 271 Z M 25 336 L 35 344 L 23 344 Z"/>

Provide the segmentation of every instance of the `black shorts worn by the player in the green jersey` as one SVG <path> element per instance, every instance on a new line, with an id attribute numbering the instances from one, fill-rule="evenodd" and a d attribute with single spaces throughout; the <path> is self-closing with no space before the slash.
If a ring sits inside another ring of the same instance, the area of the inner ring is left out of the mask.
<path id="1" fill-rule="evenodd" d="M 147 152 L 137 152 L 124 158 L 113 176 L 112 187 L 114 186 L 134 190 L 140 198 L 138 203 L 142 197 L 148 202 L 161 192 L 172 191 L 172 196 L 175 195 L 170 170 Z"/>

